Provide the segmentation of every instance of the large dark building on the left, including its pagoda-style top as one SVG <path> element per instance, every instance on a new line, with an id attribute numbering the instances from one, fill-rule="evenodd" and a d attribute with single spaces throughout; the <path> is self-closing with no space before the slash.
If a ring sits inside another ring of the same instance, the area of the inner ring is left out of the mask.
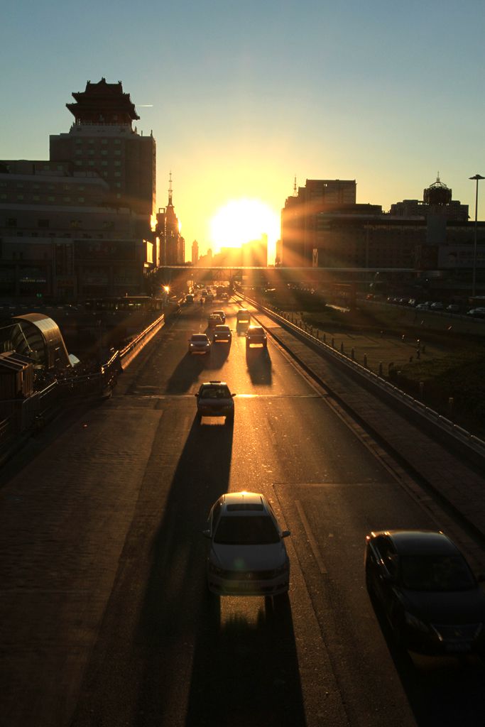
<path id="1" fill-rule="evenodd" d="M 102 79 L 85 94 L 49 161 L 0 161 L 0 297 L 140 294 L 156 265 L 153 137 L 131 129 L 121 84 Z"/>

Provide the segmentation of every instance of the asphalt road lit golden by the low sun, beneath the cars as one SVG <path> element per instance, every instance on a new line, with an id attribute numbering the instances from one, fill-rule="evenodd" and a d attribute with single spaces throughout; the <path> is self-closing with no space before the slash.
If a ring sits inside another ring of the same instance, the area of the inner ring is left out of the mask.
<path id="1" fill-rule="evenodd" d="M 230 349 L 187 356 L 207 310 L 185 308 L 109 401 L 4 468 L 4 723 L 481 725 L 482 662 L 399 654 L 364 585 L 371 529 L 442 527 L 459 542 L 460 529 L 278 345 L 246 355 L 236 305 L 223 308 Z M 196 423 L 207 379 L 236 391 L 233 427 Z M 201 531 L 240 489 L 264 492 L 292 531 L 281 611 L 207 598 Z"/>

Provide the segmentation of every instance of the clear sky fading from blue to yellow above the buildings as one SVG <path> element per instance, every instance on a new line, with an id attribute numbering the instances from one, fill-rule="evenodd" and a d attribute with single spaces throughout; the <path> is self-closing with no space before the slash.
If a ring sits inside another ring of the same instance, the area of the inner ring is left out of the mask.
<path id="1" fill-rule="evenodd" d="M 188 260 L 194 239 L 217 251 L 211 222 L 228 203 L 279 217 L 295 177 L 355 179 L 358 203 L 386 211 L 439 173 L 474 220 L 484 37 L 483 0 L 7 0 L 0 158 L 49 158 L 71 94 L 104 77 L 156 139 L 157 207 L 172 172 Z"/>

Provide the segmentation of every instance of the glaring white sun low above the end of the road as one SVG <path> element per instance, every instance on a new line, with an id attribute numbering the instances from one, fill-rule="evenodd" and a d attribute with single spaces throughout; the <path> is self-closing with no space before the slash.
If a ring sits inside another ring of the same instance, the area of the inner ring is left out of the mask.
<path id="1" fill-rule="evenodd" d="M 268 236 L 274 247 L 280 235 L 279 214 L 257 199 L 233 199 L 217 210 L 210 223 L 215 252 L 223 247 L 241 247 L 246 242 Z"/>

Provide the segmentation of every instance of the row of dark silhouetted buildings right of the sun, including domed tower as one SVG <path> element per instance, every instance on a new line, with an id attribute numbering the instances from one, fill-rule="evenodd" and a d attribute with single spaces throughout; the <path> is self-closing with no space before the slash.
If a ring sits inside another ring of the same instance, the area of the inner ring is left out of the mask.
<path id="1" fill-rule="evenodd" d="M 485 224 L 477 225 L 475 251 L 468 205 L 453 200 L 452 190 L 439 177 L 425 188 L 422 201 L 398 202 L 390 212 L 355 200 L 339 203 L 339 193 L 341 199 L 353 196 L 352 182 L 346 188 L 337 185 L 326 201 L 329 180 L 307 180 L 307 185 L 308 190 L 300 188 L 282 210 L 283 265 L 307 266 L 308 246 L 313 244 L 310 264 L 319 268 L 407 268 L 447 275 L 455 271 L 458 277 L 473 265 L 485 269 Z"/>

